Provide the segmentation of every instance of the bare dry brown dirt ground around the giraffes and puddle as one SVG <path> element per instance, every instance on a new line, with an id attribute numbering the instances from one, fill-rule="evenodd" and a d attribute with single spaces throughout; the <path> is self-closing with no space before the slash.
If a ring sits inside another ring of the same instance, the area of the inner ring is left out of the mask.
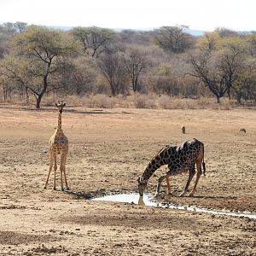
<path id="1" fill-rule="evenodd" d="M 255 219 L 86 200 L 137 192 L 160 148 L 195 137 L 205 144 L 207 176 L 195 197 L 165 200 L 256 212 L 255 110 L 66 108 L 64 192 L 59 175 L 56 191 L 52 176 L 43 189 L 56 109 L 0 105 L 0 114 L 0 255 L 256 255 Z M 164 172 L 150 178 L 149 193 Z M 178 194 L 186 180 L 172 177 L 172 189 Z"/>

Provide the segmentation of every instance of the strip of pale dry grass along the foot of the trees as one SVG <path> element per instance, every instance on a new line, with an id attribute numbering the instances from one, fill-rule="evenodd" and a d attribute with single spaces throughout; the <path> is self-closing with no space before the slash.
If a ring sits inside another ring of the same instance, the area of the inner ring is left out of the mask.
<path id="1" fill-rule="evenodd" d="M 162 109 L 220 109 L 230 110 L 232 108 L 242 108 L 236 104 L 235 100 L 221 98 L 220 103 L 215 98 L 200 97 L 198 99 L 181 98 L 173 96 L 157 96 L 154 94 L 132 94 L 130 96 L 108 96 L 104 94 L 90 96 L 44 96 L 41 106 L 53 106 L 56 101 L 62 99 L 67 102 L 69 107 L 85 107 L 85 108 L 162 108 Z M 3 101 L 0 103 L 3 103 Z M 7 104 L 20 105 L 20 107 L 35 108 L 35 98 L 30 97 L 20 99 L 15 96 L 9 99 Z M 246 107 L 244 107 L 246 108 Z M 255 108 L 255 107 L 250 107 Z"/>

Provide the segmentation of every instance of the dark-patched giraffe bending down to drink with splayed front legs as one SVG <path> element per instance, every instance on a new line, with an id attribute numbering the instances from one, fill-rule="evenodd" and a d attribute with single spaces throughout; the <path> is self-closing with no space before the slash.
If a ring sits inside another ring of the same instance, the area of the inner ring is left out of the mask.
<path id="1" fill-rule="evenodd" d="M 138 177 L 138 190 L 139 195 L 143 196 L 143 192 L 146 189 L 148 179 L 153 173 L 160 168 L 160 166 L 168 165 L 166 175 L 159 178 L 156 189 L 156 196 L 160 193 L 160 186 L 164 179 L 166 179 L 168 194 L 172 194 L 169 177 L 177 175 L 182 172 L 189 171 L 188 182 L 186 183 L 183 192 L 179 196 L 185 195 L 189 189 L 189 183 L 195 176 L 195 164 L 197 168 L 195 185 L 189 196 L 195 194 L 195 189 L 199 178 L 201 177 L 201 165 L 203 166 L 203 174 L 205 175 L 206 167 L 204 162 L 204 144 L 193 138 L 189 141 L 182 143 L 180 146 L 174 146 L 172 144 L 166 145 L 162 148 L 158 154 L 149 162 L 143 177 Z"/>

